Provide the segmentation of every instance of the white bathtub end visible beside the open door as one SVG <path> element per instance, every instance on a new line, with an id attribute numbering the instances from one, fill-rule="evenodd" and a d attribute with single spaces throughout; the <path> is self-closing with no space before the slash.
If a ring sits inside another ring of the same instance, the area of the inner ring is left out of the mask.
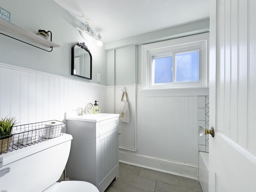
<path id="1" fill-rule="evenodd" d="M 199 181 L 203 192 L 208 192 L 209 153 L 199 152 Z"/>

